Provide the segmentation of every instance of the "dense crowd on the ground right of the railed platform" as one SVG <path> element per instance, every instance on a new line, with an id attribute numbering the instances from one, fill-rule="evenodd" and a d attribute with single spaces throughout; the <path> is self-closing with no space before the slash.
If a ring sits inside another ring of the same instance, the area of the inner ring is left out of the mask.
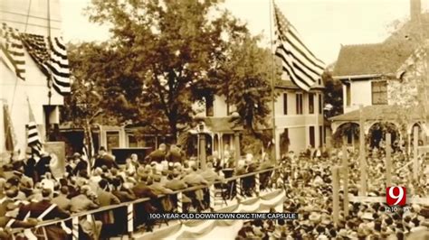
<path id="1" fill-rule="evenodd" d="M 305 155 L 305 154 L 304 154 Z M 342 152 L 333 151 L 309 158 L 291 154 L 281 163 L 287 200 L 284 212 L 299 213 L 298 220 L 246 222 L 237 239 L 429 239 L 429 202 L 407 204 L 390 211 L 385 203 L 349 202 L 342 208 L 344 179 L 340 180 L 338 225 L 333 223 L 332 170 L 340 165 Z M 367 156 L 368 196 L 386 196 L 386 155 L 374 151 Z M 429 164 L 420 163 L 419 180 L 413 180 L 412 165 L 403 152 L 392 155 L 393 186 L 403 186 L 411 197 L 429 197 Z M 360 188 L 358 152 L 348 152 L 348 192 L 358 196 Z"/>

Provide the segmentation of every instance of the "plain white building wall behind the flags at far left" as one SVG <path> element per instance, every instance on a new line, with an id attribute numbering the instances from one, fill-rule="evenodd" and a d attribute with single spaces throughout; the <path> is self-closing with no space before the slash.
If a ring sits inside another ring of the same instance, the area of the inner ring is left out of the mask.
<path id="1" fill-rule="evenodd" d="M 48 9 L 48 2 L 45 0 L 0 0 L 0 23 L 4 33 L 5 27 L 11 27 L 19 34 L 61 36 L 60 1 L 50 0 L 49 6 Z M 3 47 L 8 44 L 8 41 L 5 37 L 2 38 Z M 2 55 L 0 60 L 0 152 L 5 152 L 6 138 L 13 134 L 15 150 L 21 150 L 21 154 L 24 155 L 27 144 L 26 125 L 29 123 L 28 102 L 43 139 L 47 125 L 60 122 L 59 107 L 63 104 L 63 97 L 52 88 L 53 79 L 47 78 L 30 56 L 28 49 L 24 50 L 24 80 L 14 74 L 6 61 L 5 56 Z M 50 88 L 48 84 L 51 85 Z M 10 124 L 5 123 L 5 119 L 11 120 L 13 128 L 6 126 L 8 129 L 5 129 L 5 125 Z"/>

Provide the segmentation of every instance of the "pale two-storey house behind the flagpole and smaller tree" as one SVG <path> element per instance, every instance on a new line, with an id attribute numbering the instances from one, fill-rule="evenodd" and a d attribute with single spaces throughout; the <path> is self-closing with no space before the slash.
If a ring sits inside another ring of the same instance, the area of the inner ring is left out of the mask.
<path id="1" fill-rule="evenodd" d="M 329 129 L 325 126 L 323 117 L 323 88 L 321 80 L 309 92 L 301 90 L 290 80 L 282 80 L 281 84 L 276 86 L 278 96 L 274 103 L 274 113 L 277 158 L 289 151 L 301 152 L 310 146 L 319 148 L 326 143 Z M 196 105 L 195 107 L 197 108 Z M 213 104 L 203 107 L 198 114 L 205 118 L 214 150 L 221 155 L 225 151 L 235 151 L 234 139 L 241 131 L 229 123 L 234 117 L 234 111 L 234 106 L 228 106 L 224 97 L 215 96 Z M 268 117 L 267 123 L 272 125 L 271 116 Z"/>

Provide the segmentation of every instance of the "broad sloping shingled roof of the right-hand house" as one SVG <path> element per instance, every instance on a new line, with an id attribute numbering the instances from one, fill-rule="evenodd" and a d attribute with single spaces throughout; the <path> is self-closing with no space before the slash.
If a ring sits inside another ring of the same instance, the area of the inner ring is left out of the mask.
<path id="1" fill-rule="evenodd" d="M 404 41 L 342 46 L 333 76 L 394 74 L 414 50 Z"/>

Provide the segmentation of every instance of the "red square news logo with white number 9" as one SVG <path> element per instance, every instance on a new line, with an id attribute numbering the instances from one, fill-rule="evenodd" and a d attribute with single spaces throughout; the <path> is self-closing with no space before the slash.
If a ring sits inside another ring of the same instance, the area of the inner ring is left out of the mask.
<path id="1" fill-rule="evenodd" d="M 396 212 L 402 209 L 409 211 L 411 208 L 406 205 L 405 187 L 387 187 L 386 188 L 386 212 Z"/>

